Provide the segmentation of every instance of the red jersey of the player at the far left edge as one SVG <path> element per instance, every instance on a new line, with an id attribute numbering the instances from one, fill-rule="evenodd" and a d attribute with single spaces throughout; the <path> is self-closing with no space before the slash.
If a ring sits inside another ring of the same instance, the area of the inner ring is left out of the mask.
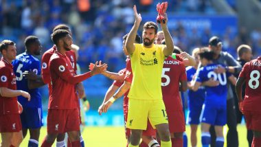
<path id="1" fill-rule="evenodd" d="M 16 77 L 11 63 L 1 58 L 0 60 L 0 87 L 16 90 Z M 0 95 L 0 115 L 18 112 L 17 97 L 5 98 Z"/>

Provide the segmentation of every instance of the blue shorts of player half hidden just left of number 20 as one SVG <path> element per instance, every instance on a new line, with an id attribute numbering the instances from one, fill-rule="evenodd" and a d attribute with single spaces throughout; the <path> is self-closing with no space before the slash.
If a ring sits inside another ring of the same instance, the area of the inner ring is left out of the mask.
<path id="1" fill-rule="evenodd" d="M 188 110 L 187 124 L 199 124 L 199 117 L 201 116 L 202 105 L 193 106 L 190 104 Z"/>

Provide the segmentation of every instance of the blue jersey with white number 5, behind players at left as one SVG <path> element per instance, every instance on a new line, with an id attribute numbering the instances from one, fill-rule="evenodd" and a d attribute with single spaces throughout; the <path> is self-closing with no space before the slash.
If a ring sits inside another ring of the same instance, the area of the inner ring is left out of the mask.
<path id="1" fill-rule="evenodd" d="M 27 91 L 31 95 L 30 102 L 27 101 L 27 98 L 23 98 L 22 96 L 18 97 L 19 102 L 23 106 L 41 107 L 42 102 L 39 89 L 28 89 L 27 79 L 23 77 L 23 72 L 25 71 L 34 71 L 35 74 L 41 75 L 41 63 L 38 58 L 27 53 L 19 54 L 16 56 L 16 60 L 12 61 L 12 65 L 14 66 L 17 89 Z"/>

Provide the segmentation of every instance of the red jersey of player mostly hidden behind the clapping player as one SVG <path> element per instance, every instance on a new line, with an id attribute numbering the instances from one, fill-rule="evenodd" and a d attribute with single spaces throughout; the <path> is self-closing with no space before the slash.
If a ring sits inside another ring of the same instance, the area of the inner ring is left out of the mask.
<path id="1" fill-rule="evenodd" d="M 52 86 L 51 86 L 51 78 L 50 78 L 50 71 L 49 71 L 49 60 L 54 54 L 54 51 L 56 51 L 56 45 L 54 45 L 52 48 L 48 49 L 42 56 L 42 78 L 43 82 L 45 84 L 48 84 L 49 88 L 49 94 L 52 92 Z M 76 54 L 72 50 L 67 51 L 65 53 L 67 56 L 69 56 L 69 60 L 71 61 L 71 66 L 74 69 L 74 74 L 76 74 L 77 66 L 76 66 Z"/>

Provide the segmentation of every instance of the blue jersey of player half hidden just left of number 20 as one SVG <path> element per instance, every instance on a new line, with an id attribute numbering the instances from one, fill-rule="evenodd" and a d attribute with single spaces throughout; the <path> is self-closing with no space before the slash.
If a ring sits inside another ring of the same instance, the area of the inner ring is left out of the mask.
<path id="1" fill-rule="evenodd" d="M 195 76 L 196 74 L 196 69 L 194 69 L 194 67 L 187 67 L 186 72 L 187 72 L 188 82 L 191 82 L 193 76 Z M 199 87 L 198 91 L 192 91 L 188 89 L 188 97 L 189 97 L 190 104 L 194 106 L 198 106 L 198 105 L 202 106 L 205 100 L 205 87 L 203 86 Z"/>

